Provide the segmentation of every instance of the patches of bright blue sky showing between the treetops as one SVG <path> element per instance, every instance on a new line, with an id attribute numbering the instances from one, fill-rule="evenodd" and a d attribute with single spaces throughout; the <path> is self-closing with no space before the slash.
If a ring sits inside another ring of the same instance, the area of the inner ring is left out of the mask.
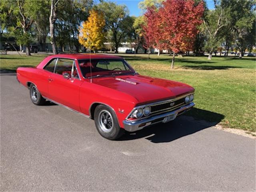
<path id="1" fill-rule="evenodd" d="M 125 4 L 128 6 L 130 11 L 130 16 L 139 16 L 142 15 L 141 10 L 138 8 L 138 4 L 142 0 L 111 0 L 116 2 L 117 4 Z M 213 0 L 206 0 L 207 6 L 209 9 L 214 9 L 214 2 Z"/>

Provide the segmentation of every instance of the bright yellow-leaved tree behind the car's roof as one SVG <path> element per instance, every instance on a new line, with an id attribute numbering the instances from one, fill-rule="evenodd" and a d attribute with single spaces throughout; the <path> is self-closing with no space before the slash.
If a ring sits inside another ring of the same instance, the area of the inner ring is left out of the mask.
<path id="1" fill-rule="evenodd" d="M 79 43 L 93 51 L 102 48 L 105 38 L 105 24 L 103 12 L 91 10 L 88 20 L 83 22 L 80 28 Z"/>

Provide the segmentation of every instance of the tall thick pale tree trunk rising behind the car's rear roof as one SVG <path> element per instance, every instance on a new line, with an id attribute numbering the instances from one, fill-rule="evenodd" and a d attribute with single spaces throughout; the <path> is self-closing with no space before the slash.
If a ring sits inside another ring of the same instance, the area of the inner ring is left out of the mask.
<path id="1" fill-rule="evenodd" d="M 51 12 L 50 12 L 50 39 L 51 39 L 51 44 L 52 44 L 52 52 L 53 54 L 57 54 L 57 48 L 56 48 L 56 42 L 55 42 L 55 36 L 54 36 L 54 24 L 57 19 L 57 14 L 55 10 L 55 0 L 51 0 Z"/>

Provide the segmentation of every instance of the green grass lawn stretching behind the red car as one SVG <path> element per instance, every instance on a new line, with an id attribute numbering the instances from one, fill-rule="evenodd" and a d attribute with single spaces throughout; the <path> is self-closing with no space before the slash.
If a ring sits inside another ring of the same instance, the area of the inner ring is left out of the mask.
<path id="1" fill-rule="evenodd" d="M 197 119 L 221 122 L 222 126 L 255 132 L 256 60 L 252 57 L 224 58 L 185 56 L 176 58 L 170 69 L 170 56 L 118 54 L 142 75 L 190 84 L 196 89 L 196 107 L 188 112 Z M 1 70 L 35 66 L 46 55 L 1 55 Z"/>

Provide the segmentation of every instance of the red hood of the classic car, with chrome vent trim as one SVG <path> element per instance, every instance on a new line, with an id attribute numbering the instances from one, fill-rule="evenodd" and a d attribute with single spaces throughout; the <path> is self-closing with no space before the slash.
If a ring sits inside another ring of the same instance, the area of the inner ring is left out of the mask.
<path id="1" fill-rule="evenodd" d="M 94 78 L 92 82 L 129 94 L 138 103 L 175 98 L 194 91 L 194 88 L 184 83 L 141 75 Z"/>

